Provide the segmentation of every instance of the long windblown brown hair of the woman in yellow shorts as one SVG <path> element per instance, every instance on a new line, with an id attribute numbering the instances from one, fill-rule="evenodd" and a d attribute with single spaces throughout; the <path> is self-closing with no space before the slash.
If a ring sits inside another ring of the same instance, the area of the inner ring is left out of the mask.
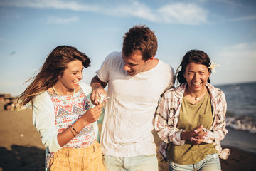
<path id="1" fill-rule="evenodd" d="M 90 58 L 85 53 L 78 51 L 77 48 L 72 46 L 58 46 L 54 48 L 47 56 L 39 73 L 28 80 L 32 81 L 32 83 L 19 96 L 20 106 L 26 105 L 29 102 L 33 103 L 33 98 L 53 86 L 58 81 L 58 77 L 63 75 L 63 71 L 67 68 L 68 63 L 75 60 L 81 61 L 85 68 L 90 66 Z"/>

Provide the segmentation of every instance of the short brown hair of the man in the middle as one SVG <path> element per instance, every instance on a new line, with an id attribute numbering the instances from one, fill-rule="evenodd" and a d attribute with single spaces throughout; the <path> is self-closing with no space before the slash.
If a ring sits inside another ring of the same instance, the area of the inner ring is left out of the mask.
<path id="1" fill-rule="evenodd" d="M 140 51 L 144 61 L 156 55 L 157 38 L 153 31 L 145 25 L 136 25 L 129 29 L 123 36 L 122 53 L 130 56 L 135 51 Z"/>

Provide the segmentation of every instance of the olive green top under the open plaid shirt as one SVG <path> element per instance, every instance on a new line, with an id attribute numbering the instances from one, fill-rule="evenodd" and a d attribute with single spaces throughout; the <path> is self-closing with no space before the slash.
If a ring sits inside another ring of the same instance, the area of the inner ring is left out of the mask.
<path id="1" fill-rule="evenodd" d="M 213 113 L 209 93 L 206 93 L 196 104 L 192 104 L 186 98 L 182 98 L 177 124 L 178 129 L 190 131 L 198 125 L 203 125 L 203 128 L 210 129 L 212 124 Z M 192 145 L 190 141 L 186 141 L 184 145 L 169 145 L 167 155 L 171 162 L 190 165 L 200 162 L 206 155 L 216 152 L 217 150 L 215 150 L 213 144 L 201 143 L 200 145 Z"/>

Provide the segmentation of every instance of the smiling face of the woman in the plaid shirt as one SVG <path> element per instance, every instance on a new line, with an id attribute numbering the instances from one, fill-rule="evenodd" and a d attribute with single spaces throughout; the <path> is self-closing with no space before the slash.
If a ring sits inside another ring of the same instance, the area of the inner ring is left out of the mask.
<path id="1" fill-rule="evenodd" d="M 188 83 L 188 91 L 196 93 L 203 90 L 209 76 L 210 72 L 205 65 L 188 63 L 184 72 L 184 77 Z"/>

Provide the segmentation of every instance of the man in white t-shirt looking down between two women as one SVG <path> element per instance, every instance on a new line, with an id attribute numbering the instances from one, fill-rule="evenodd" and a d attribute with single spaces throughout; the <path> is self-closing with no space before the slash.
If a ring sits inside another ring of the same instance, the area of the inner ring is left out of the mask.
<path id="1" fill-rule="evenodd" d="M 174 86 L 174 70 L 155 58 L 157 38 L 146 26 L 124 35 L 122 52 L 105 58 L 92 78 L 93 103 L 99 93 L 107 105 L 101 145 L 106 170 L 158 170 L 153 119 L 161 94 Z"/>

